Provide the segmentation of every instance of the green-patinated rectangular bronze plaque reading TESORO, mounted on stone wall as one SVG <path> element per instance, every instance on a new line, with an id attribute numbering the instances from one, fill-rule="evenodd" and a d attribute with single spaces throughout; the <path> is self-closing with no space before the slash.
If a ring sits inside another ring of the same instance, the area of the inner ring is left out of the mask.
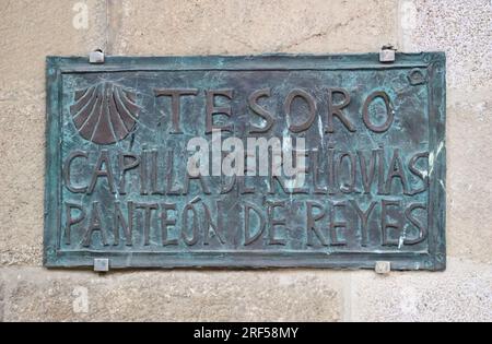
<path id="1" fill-rule="evenodd" d="M 50 57 L 47 79 L 46 266 L 445 269 L 444 54 Z"/>

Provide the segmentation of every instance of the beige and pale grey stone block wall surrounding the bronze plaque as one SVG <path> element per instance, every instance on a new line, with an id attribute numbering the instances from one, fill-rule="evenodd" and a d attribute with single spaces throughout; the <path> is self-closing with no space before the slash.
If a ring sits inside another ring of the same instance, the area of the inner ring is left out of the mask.
<path id="1" fill-rule="evenodd" d="M 490 0 L 2 0 L 0 16 L 0 320 L 492 321 Z M 46 56 L 387 43 L 447 52 L 446 272 L 42 268 Z"/>

